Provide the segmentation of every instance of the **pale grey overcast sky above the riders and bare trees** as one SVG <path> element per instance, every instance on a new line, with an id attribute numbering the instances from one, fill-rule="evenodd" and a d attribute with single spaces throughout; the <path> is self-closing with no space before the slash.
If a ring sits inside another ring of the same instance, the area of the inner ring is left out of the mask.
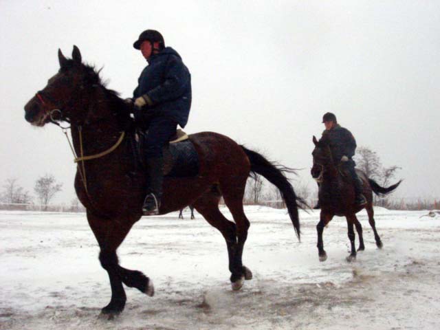
<path id="1" fill-rule="evenodd" d="M 57 126 L 30 126 L 23 106 L 57 72 L 58 47 L 70 57 L 72 45 L 130 97 L 146 65 L 132 45 L 147 28 L 192 74 L 188 133 L 223 133 L 305 168 L 298 181 L 314 188 L 311 137 L 332 111 L 358 146 L 401 166 L 395 196 L 440 199 L 440 2 L 414 0 L 0 0 L 0 183 L 17 177 L 33 194 L 52 173 L 69 203 L 67 141 Z"/>

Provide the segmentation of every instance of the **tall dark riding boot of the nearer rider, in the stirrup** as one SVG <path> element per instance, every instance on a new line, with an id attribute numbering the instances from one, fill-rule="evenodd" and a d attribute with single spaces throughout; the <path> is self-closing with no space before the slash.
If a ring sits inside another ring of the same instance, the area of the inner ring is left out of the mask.
<path id="1" fill-rule="evenodd" d="M 160 199 L 162 197 L 162 183 L 164 181 L 164 158 L 150 157 L 146 159 L 148 174 L 148 194 L 144 199 L 142 214 L 159 214 Z"/>

